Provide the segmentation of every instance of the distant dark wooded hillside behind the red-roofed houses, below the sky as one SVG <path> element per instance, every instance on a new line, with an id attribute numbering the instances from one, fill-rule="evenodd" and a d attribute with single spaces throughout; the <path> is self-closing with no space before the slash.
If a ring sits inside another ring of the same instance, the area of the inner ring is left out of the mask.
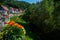
<path id="1" fill-rule="evenodd" d="M 24 2 L 24 1 L 13 1 L 13 2 L 4 2 L 3 5 L 7 6 L 7 7 L 15 7 L 15 8 L 21 8 L 21 9 L 26 9 L 29 7 L 29 3 L 28 2 Z"/>

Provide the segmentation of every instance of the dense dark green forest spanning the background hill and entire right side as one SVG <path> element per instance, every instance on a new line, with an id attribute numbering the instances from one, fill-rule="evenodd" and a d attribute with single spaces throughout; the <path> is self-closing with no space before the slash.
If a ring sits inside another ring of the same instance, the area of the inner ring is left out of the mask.
<path id="1" fill-rule="evenodd" d="M 25 14 L 21 18 L 28 22 L 30 31 L 37 34 L 42 40 L 60 39 L 60 0 L 42 0 L 36 4 L 6 0 L 2 5 L 7 7 L 12 5 L 24 9 Z"/>

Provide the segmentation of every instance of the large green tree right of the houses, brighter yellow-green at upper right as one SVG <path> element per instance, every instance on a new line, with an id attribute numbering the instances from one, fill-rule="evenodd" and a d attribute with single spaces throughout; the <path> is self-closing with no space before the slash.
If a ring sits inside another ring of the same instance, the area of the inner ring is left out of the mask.
<path id="1" fill-rule="evenodd" d="M 44 0 L 37 4 L 32 4 L 27 10 L 25 20 L 34 25 L 35 31 L 48 33 L 54 30 L 54 2 L 53 0 Z"/>

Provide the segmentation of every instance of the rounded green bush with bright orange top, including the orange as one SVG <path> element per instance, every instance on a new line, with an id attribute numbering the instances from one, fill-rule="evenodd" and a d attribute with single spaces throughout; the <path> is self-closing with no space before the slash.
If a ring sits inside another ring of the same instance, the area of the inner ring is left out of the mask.
<path id="1" fill-rule="evenodd" d="M 24 27 L 14 21 L 7 22 L 3 27 L 3 40 L 22 40 L 25 37 L 26 31 Z"/>

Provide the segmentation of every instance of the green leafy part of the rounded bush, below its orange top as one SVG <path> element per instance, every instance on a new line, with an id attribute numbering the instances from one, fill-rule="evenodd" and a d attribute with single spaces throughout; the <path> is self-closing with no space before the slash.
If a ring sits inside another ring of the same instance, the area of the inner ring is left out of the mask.
<path id="1" fill-rule="evenodd" d="M 2 30 L 2 40 L 22 40 L 25 37 L 24 29 L 17 26 L 6 25 Z"/>

